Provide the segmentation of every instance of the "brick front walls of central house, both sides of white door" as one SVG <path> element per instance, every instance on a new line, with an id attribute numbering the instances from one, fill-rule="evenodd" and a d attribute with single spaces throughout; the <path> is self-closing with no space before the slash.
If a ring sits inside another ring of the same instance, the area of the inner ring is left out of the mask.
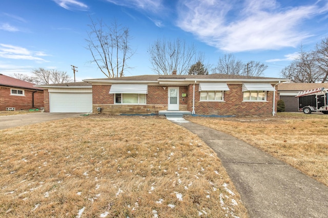
<path id="1" fill-rule="evenodd" d="M 195 84 L 195 113 L 202 115 L 272 115 L 273 91 L 267 92 L 266 102 L 243 102 L 242 84 L 228 84 L 224 102 L 201 102 L 198 84 Z M 151 114 L 167 110 L 168 86 L 148 86 L 147 105 L 114 104 L 114 94 L 109 94 L 110 85 L 93 85 L 93 111 L 101 107 L 107 114 Z M 163 88 L 165 87 L 165 89 Z M 187 97 L 182 98 L 182 93 Z M 279 97 L 276 93 L 277 103 Z M 193 110 L 193 84 L 179 86 L 179 110 Z"/>

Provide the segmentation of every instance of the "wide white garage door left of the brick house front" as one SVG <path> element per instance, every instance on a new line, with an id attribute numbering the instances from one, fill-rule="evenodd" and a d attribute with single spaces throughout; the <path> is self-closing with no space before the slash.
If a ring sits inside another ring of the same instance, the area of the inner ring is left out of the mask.
<path id="1" fill-rule="evenodd" d="M 50 112 L 92 112 L 92 93 L 49 93 Z"/>

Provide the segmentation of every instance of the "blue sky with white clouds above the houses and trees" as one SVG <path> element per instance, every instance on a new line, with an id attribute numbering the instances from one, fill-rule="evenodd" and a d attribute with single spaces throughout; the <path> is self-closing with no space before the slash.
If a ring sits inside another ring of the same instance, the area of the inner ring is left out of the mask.
<path id="1" fill-rule="evenodd" d="M 125 76 L 154 74 L 147 49 L 158 38 L 194 43 L 204 63 L 233 53 L 280 77 L 300 45 L 313 50 L 328 36 L 328 0 L 3 0 L 0 3 L 0 73 L 31 75 L 44 67 L 78 67 L 76 81 L 105 78 L 85 49 L 90 17 L 130 29 L 136 51 Z"/>

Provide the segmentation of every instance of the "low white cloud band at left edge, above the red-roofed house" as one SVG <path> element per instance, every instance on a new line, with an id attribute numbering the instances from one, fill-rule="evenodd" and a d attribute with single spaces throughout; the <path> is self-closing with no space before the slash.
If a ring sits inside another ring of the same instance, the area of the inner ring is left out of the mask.
<path id="1" fill-rule="evenodd" d="M 48 56 L 44 52 L 29 51 L 24 47 L 14 46 L 10 44 L 0 44 L 0 57 L 8 59 L 34 60 L 38 62 L 47 62 L 43 58 L 37 56 Z"/>

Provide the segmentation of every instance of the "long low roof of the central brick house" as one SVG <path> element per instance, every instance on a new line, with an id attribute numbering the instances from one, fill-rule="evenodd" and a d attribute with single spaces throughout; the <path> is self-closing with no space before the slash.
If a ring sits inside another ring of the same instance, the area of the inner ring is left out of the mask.
<path id="1" fill-rule="evenodd" d="M 160 79 L 170 79 L 170 80 L 199 80 L 199 79 L 221 79 L 221 80 L 283 80 L 289 81 L 287 79 L 279 78 L 268 78 L 268 77 L 250 77 L 250 76 L 238 76 L 238 75 L 226 75 L 226 74 L 210 74 L 210 75 L 142 75 L 142 76 L 132 76 L 132 77 L 119 77 L 119 78 L 103 78 L 103 79 L 87 79 L 84 81 L 88 82 L 99 82 L 99 81 L 158 81 Z"/>

